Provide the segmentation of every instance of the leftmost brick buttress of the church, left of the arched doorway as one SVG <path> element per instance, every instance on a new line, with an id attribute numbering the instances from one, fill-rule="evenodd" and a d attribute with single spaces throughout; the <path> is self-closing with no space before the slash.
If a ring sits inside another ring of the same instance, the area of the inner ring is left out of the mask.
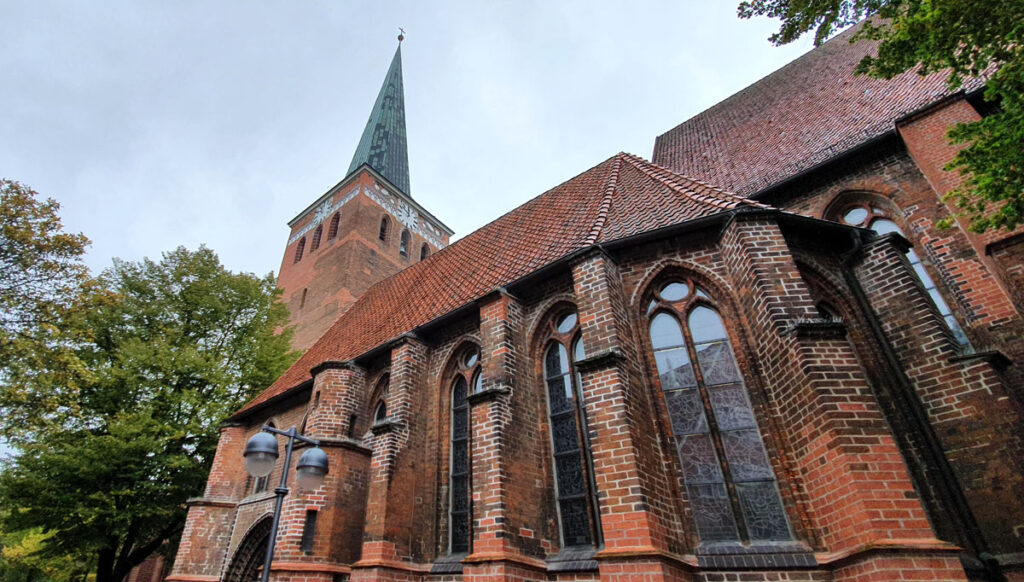
<path id="1" fill-rule="evenodd" d="M 205 495 L 188 500 L 177 557 L 167 580 L 218 580 L 231 538 L 237 501 L 243 497 L 247 483 L 242 457 L 246 434 L 246 427 L 241 424 L 226 423 L 220 427 Z"/>

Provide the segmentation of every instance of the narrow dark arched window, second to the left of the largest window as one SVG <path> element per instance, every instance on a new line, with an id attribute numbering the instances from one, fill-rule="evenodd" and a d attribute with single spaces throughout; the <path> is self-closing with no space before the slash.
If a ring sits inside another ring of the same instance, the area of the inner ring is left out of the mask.
<path id="1" fill-rule="evenodd" d="M 449 463 L 449 537 L 451 553 L 469 551 L 471 533 L 472 488 L 470 486 L 469 386 L 480 384 L 480 352 L 464 349 L 456 361 L 452 380 L 452 449 Z"/>

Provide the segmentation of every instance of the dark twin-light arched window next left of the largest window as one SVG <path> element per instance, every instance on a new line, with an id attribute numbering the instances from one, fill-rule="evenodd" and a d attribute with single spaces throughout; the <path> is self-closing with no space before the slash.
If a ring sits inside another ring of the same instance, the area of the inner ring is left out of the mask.
<path id="1" fill-rule="evenodd" d="M 564 547 L 599 543 L 600 518 L 587 439 L 587 415 L 575 363 L 586 358 L 575 311 L 551 323 L 544 351 L 555 493 Z"/>

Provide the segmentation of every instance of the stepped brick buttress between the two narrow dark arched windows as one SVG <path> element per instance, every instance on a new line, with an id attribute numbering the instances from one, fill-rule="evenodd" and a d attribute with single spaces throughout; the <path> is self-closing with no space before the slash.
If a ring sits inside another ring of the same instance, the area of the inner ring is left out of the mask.
<path id="1" fill-rule="evenodd" d="M 468 397 L 472 439 L 473 544 L 463 559 L 464 580 L 545 580 L 541 560 L 525 556 L 515 538 L 509 499 L 512 398 L 521 345 L 522 306 L 499 291 L 480 301 L 482 389 Z M 525 484 L 524 484 L 525 487 Z"/>

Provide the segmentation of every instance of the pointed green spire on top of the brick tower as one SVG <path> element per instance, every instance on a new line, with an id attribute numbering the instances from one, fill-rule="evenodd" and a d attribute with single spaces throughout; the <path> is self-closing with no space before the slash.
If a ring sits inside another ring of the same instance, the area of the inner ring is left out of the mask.
<path id="1" fill-rule="evenodd" d="M 377 170 L 402 193 L 409 191 L 409 151 L 406 147 L 406 96 L 401 87 L 401 44 L 394 51 L 391 67 L 387 70 L 384 85 L 377 95 L 374 111 L 370 113 L 367 128 L 355 148 L 351 174 L 361 164 Z"/>

